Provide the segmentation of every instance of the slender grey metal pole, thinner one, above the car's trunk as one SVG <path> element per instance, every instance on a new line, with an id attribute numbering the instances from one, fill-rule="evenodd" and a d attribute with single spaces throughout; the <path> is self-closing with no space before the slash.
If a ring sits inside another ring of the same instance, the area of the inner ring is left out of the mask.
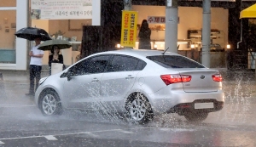
<path id="1" fill-rule="evenodd" d="M 211 42 L 211 0 L 203 0 L 203 27 L 201 63 L 210 68 L 210 42 Z"/>

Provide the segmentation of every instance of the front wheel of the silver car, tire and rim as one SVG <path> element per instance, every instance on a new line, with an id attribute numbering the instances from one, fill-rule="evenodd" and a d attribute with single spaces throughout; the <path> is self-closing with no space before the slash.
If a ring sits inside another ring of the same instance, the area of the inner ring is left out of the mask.
<path id="1" fill-rule="evenodd" d="M 53 90 L 45 90 L 41 94 L 39 108 L 44 116 L 61 115 L 63 112 L 61 99 Z"/>

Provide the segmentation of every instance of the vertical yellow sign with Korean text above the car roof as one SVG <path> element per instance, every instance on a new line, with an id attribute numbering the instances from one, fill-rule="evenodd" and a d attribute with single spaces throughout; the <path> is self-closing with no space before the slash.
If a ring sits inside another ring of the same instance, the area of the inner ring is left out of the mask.
<path id="1" fill-rule="evenodd" d="M 135 47 L 137 40 L 137 11 L 122 11 L 121 46 Z"/>

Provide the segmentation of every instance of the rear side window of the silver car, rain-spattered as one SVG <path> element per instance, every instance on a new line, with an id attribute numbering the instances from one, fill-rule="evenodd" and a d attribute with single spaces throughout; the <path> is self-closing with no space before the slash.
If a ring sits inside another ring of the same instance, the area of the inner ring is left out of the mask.
<path id="1" fill-rule="evenodd" d="M 113 71 L 136 71 L 139 60 L 130 56 L 114 55 L 108 72 Z"/>

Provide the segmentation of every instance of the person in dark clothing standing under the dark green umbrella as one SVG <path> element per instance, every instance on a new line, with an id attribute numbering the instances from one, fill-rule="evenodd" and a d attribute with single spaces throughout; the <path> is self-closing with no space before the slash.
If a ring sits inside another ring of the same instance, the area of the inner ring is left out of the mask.
<path id="1" fill-rule="evenodd" d="M 63 64 L 63 55 L 60 54 L 60 49 L 57 46 L 53 46 L 50 50 L 51 54 L 49 55 L 49 75 L 51 75 L 51 63 L 60 63 Z"/>

